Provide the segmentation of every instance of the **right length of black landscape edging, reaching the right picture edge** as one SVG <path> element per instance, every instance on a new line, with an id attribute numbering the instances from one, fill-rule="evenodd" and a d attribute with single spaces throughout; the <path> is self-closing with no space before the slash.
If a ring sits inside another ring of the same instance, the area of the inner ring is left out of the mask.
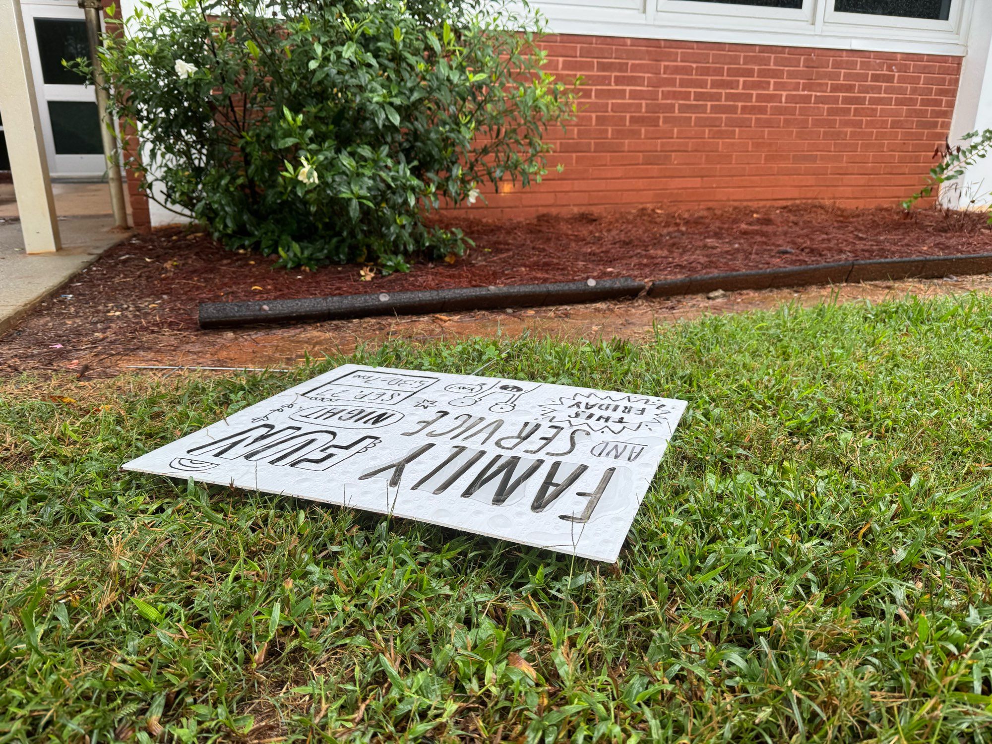
<path id="1" fill-rule="evenodd" d="M 648 297 L 699 295 L 714 290 L 770 290 L 815 284 L 844 284 L 897 279 L 936 279 L 948 275 L 992 272 L 992 253 L 969 256 L 884 258 L 873 261 L 844 261 L 837 264 L 790 266 L 784 269 L 707 274 L 685 279 L 652 282 Z"/>

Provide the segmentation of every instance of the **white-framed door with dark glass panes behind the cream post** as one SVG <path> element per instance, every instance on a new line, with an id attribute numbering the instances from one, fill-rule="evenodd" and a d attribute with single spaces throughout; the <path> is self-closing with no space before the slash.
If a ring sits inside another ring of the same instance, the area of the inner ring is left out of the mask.
<path id="1" fill-rule="evenodd" d="M 62 65 L 62 60 L 89 56 L 83 12 L 75 2 L 21 7 L 49 170 L 54 177 L 103 177 L 107 166 L 96 94 L 81 75 Z"/>

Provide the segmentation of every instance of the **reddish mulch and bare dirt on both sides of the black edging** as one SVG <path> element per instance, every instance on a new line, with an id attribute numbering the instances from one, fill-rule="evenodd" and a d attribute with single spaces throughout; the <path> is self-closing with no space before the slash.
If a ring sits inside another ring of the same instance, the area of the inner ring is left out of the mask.
<path id="1" fill-rule="evenodd" d="M 66 285 L 61 296 L 50 298 L 3 337 L 0 370 L 106 375 L 131 363 L 265 366 L 288 363 L 305 352 L 350 351 L 359 342 L 396 336 L 464 337 L 525 329 L 566 337 L 634 337 L 650 332 L 657 318 L 736 305 L 767 307 L 795 296 L 792 291 L 733 293 L 731 299 L 721 301 L 722 307 L 705 299 L 643 300 L 511 313 L 369 318 L 237 333 L 197 330 L 200 302 L 590 276 L 672 279 L 851 259 L 992 252 L 992 230 L 982 216 L 948 216 L 936 210 L 906 218 L 897 209 L 809 204 L 692 212 L 640 209 L 460 225 L 476 242 L 466 258 L 450 266 L 422 264 L 410 274 L 372 282 L 359 280 L 360 266 L 315 272 L 273 269 L 272 259 L 225 251 L 202 233 L 173 229 L 135 237 L 109 249 Z M 972 281 L 905 286 L 923 288 L 925 293 L 984 289 L 981 282 Z M 822 297 L 828 292 L 810 290 L 799 297 Z"/>

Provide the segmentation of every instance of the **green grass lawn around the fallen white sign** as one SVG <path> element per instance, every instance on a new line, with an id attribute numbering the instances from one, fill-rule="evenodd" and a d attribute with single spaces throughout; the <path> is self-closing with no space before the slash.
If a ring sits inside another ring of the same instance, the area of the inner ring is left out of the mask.
<path id="1" fill-rule="evenodd" d="M 117 466 L 301 382 L 0 383 L 0 741 L 992 741 L 992 299 L 363 363 L 679 397 L 618 565 Z"/>

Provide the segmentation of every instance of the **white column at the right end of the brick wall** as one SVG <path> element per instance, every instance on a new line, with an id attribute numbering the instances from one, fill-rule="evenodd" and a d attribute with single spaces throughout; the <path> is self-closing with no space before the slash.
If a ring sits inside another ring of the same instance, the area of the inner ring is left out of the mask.
<path id="1" fill-rule="evenodd" d="M 992 2 L 972 3 L 968 30 L 968 54 L 961 66 L 950 144 L 975 130 L 992 129 Z M 992 205 L 992 161 L 980 160 L 964 176 L 940 189 L 940 202 L 953 208 L 987 208 Z"/>

